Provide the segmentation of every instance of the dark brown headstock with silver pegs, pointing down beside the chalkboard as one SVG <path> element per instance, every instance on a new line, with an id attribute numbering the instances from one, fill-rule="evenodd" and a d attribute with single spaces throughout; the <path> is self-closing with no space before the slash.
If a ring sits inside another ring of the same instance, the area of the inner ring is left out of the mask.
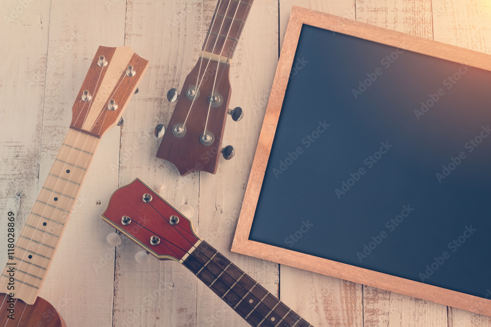
<path id="1" fill-rule="evenodd" d="M 225 159 L 234 155 L 232 146 L 221 147 L 229 113 L 229 69 L 227 57 L 202 52 L 184 82 L 157 152 L 157 158 L 175 164 L 183 176 L 195 170 L 215 174 L 220 153 Z M 237 121 L 242 109 L 234 110 Z"/>

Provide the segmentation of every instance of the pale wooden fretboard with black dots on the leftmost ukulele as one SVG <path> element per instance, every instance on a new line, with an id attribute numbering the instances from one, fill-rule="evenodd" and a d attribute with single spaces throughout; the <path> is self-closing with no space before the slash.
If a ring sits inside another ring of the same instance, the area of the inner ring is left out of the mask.
<path id="1" fill-rule="evenodd" d="M 69 129 L 1 277 L 14 271 L 16 298 L 36 300 L 100 138 Z"/>

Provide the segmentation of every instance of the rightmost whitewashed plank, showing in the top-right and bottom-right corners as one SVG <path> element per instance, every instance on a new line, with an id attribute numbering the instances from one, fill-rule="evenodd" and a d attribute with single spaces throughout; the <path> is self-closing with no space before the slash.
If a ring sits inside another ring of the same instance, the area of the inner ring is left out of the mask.
<path id="1" fill-rule="evenodd" d="M 489 1 L 433 0 L 436 41 L 491 54 L 491 3 Z M 483 272 L 484 273 L 484 272 Z M 482 296 L 491 290 L 483 285 Z M 489 293 L 491 298 L 491 292 Z M 448 307 L 448 326 L 490 326 L 491 317 Z"/>

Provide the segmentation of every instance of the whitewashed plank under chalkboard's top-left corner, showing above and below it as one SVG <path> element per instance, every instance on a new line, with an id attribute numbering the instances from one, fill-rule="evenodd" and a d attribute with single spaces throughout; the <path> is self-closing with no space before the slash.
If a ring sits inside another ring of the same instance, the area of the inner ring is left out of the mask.
<path id="1" fill-rule="evenodd" d="M 352 0 L 280 1 L 281 42 L 292 5 L 355 19 L 355 2 Z M 363 326 L 362 285 L 288 266 L 281 266 L 280 277 L 281 300 L 298 307 L 313 326 Z"/>

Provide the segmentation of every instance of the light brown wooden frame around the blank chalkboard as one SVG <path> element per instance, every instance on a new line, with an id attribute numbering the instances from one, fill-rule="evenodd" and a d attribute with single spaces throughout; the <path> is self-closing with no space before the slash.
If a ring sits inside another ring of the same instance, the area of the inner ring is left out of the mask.
<path id="1" fill-rule="evenodd" d="M 489 298 L 481 298 L 249 239 L 268 160 L 272 151 L 273 139 L 280 117 L 280 110 L 283 106 L 287 84 L 291 78 L 292 65 L 294 63 L 293 61 L 300 39 L 300 32 L 304 25 L 319 27 L 334 33 L 342 33 L 356 38 L 396 47 L 398 49 L 409 50 L 418 54 L 425 54 L 491 71 L 491 55 L 488 54 L 482 54 L 433 40 L 385 28 L 374 27 L 364 23 L 294 6 L 281 49 L 281 55 L 231 250 L 279 264 L 285 264 L 315 273 L 322 273 L 391 292 L 423 300 L 430 300 L 436 303 L 491 316 L 491 300 L 488 300 Z"/>

